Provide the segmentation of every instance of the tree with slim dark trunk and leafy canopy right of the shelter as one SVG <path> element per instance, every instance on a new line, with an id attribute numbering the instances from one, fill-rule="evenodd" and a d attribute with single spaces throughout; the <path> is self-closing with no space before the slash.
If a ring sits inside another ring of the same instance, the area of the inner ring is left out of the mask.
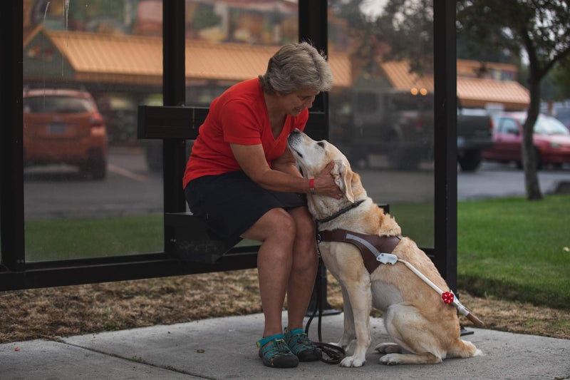
<path id="1" fill-rule="evenodd" d="M 568 0 L 462 0 L 457 26 L 464 36 L 482 44 L 507 41 L 503 48 L 527 54 L 530 105 L 523 127 L 522 155 L 528 200 L 542 194 L 537 175 L 537 152 L 532 135 L 540 111 L 540 82 L 570 53 Z M 497 46 L 498 47 L 498 46 Z"/>

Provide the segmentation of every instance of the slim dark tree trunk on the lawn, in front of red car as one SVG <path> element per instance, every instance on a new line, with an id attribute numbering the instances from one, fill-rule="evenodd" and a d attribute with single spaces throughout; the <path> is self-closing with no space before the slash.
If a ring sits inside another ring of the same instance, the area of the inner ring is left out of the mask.
<path id="1" fill-rule="evenodd" d="M 541 200 L 542 193 L 540 191 L 537 173 L 537 150 L 534 148 L 532 138 L 534 123 L 537 122 L 540 111 L 540 78 L 537 75 L 537 70 L 533 70 L 531 67 L 530 71 L 530 106 L 527 113 L 527 120 L 522 127 L 522 165 L 524 168 L 524 188 L 527 191 L 527 200 Z"/>

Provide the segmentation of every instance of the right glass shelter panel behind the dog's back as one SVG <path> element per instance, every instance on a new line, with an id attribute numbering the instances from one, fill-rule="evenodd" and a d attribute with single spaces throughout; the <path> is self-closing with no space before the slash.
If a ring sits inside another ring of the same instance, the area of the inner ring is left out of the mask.
<path id="1" fill-rule="evenodd" d="M 432 2 L 328 6 L 331 143 L 368 195 L 390 205 L 403 234 L 433 247 Z"/>

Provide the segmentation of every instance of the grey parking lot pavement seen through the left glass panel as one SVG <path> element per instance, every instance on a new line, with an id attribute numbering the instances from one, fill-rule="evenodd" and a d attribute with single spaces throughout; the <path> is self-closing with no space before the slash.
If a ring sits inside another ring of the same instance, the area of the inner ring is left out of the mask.
<path id="1" fill-rule="evenodd" d="M 149 173 L 138 149 L 112 149 L 105 180 L 84 178 L 76 168 L 28 168 L 24 212 L 28 219 L 107 217 L 162 212 L 162 178 Z"/>

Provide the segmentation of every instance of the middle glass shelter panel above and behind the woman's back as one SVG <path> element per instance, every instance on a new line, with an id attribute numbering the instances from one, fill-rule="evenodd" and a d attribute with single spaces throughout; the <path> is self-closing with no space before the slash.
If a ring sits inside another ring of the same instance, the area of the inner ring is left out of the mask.
<path id="1" fill-rule="evenodd" d="M 187 106 L 209 107 L 230 86 L 265 73 L 277 49 L 298 36 L 296 1 L 187 1 Z"/>

